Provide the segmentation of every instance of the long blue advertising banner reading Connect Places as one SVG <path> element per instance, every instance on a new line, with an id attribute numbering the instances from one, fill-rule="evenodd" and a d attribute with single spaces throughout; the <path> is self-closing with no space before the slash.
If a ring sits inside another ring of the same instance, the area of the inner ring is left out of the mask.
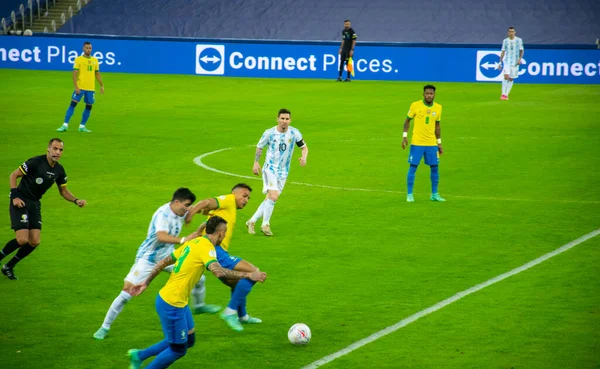
<path id="1" fill-rule="evenodd" d="M 84 41 L 104 72 L 194 74 L 266 78 L 336 78 L 338 44 L 240 42 L 113 37 L 0 37 L 0 68 L 70 70 Z M 500 81 L 498 49 L 358 44 L 356 79 L 396 81 Z M 524 83 L 600 83 L 600 50 L 527 49 Z"/>

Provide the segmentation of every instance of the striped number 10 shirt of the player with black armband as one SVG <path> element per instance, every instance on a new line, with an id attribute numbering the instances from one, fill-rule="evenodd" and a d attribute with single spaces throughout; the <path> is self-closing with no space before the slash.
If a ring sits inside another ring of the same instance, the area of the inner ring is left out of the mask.
<path id="1" fill-rule="evenodd" d="M 301 141 L 302 133 L 292 126 L 285 133 L 279 132 L 277 126 L 267 129 L 256 145 L 259 149 L 268 146 L 263 172 L 268 170 L 279 178 L 287 178 L 294 146 Z"/>

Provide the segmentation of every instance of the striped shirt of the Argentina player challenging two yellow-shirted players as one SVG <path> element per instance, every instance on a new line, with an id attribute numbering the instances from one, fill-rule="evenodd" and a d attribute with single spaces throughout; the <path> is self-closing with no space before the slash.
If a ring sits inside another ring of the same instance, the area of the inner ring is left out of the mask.
<path id="1" fill-rule="evenodd" d="M 174 250 L 172 243 L 158 242 L 157 232 L 167 232 L 170 236 L 179 236 L 183 223 L 185 222 L 185 215 L 178 216 L 173 213 L 170 207 L 170 203 L 166 203 L 152 216 L 150 226 L 148 227 L 148 235 L 142 245 L 138 248 L 135 261 L 144 259 L 150 264 L 156 264 L 163 258 L 167 257 Z"/>

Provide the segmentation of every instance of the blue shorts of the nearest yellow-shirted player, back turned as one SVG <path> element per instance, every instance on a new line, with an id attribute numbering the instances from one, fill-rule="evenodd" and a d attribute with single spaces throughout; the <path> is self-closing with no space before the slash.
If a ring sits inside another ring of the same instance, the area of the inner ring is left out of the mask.
<path id="1" fill-rule="evenodd" d="M 175 344 L 186 343 L 187 332 L 194 328 L 190 307 L 188 305 L 183 308 L 175 307 L 168 304 L 160 295 L 156 295 L 156 312 L 167 341 Z"/>

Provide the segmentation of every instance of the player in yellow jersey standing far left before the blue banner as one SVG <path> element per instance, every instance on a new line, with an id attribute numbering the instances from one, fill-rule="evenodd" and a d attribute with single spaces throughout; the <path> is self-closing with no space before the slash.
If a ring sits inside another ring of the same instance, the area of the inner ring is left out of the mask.
<path id="1" fill-rule="evenodd" d="M 71 105 L 67 109 L 65 122 L 57 131 L 64 132 L 69 129 L 69 120 L 71 120 L 71 116 L 75 112 L 77 103 L 83 97 L 85 110 L 79 124 L 79 132 L 92 132 L 85 127 L 85 124 L 90 117 L 92 105 L 95 101 L 96 80 L 100 84 L 100 93 L 103 94 L 104 83 L 102 83 L 102 78 L 100 77 L 100 63 L 98 59 L 92 56 L 92 44 L 84 42 L 83 55 L 78 56 L 73 64 L 73 86 L 75 87 L 75 91 L 73 91 L 73 95 L 71 96 Z"/>

